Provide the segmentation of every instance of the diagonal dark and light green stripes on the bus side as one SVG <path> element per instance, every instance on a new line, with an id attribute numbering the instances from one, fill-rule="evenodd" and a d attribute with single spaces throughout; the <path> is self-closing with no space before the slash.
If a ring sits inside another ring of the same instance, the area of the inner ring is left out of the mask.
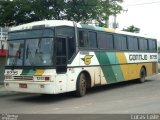
<path id="1" fill-rule="evenodd" d="M 124 80 L 124 76 L 115 52 L 96 52 L 99 64 L 108 83 Z M 116 65 L 115 65 L 116 64 Z"/>

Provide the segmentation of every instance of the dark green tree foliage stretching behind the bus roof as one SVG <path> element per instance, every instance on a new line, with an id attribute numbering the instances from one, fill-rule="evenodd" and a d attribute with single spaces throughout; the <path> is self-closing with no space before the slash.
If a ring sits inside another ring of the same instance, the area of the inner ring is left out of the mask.
<path id="1" fill-rule="evenodd" d="M 0 26 L 12 26 L 44 19 L 98 21 L 106 26 L 110 15 L 119 14 L 123 0 L 6 0 L 0 1 Z"/>

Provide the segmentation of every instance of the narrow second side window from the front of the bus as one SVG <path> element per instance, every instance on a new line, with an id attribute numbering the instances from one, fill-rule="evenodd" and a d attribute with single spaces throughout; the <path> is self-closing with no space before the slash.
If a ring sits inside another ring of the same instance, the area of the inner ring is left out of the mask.
<path id="1" fill-rule="evenodd" d="M 89 32 L 88 33 L 88 41 L 90 48 L 97 48 L 97 33 Z"/>

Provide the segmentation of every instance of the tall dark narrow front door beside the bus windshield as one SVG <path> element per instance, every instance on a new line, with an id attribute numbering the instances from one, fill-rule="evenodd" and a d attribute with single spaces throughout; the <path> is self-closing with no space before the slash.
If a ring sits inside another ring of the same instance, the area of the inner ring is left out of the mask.
<path id="1" fill-rule="evenodd" d="M 55 42 L 56 48 L 56 72 L 67 72 L 67 38 L 58 37 Z"/>

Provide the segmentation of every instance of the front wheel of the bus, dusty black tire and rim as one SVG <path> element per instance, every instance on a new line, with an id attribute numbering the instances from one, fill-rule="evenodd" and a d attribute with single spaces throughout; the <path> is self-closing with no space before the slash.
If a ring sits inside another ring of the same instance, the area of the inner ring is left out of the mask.
<path id="1" fill-rule="evenodd" d="M 87 83 L 86 83 L 86 76 L 84 73 L 81 73 L 78 76 L 77 84 L 76 84 L 76 96 L 82 97 L 86 94 Z"/>

